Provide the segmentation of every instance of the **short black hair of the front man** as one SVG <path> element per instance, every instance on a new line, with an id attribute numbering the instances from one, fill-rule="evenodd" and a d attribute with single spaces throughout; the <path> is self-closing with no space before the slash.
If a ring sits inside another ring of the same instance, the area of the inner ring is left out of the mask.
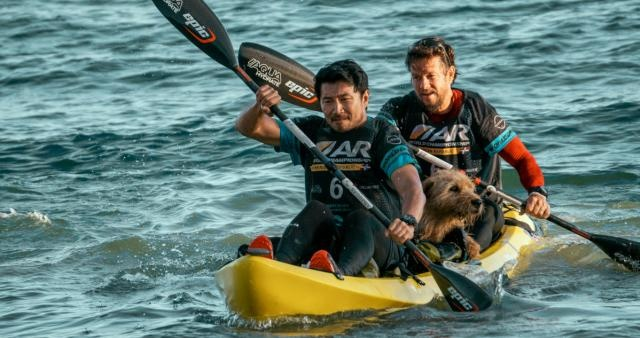
<path id="1" fill-rule="evenodd" d="M 318 97 L 322 96 L 323 83 L 335 83 L 345 81 L 350 83 L 358 93 L 364 93 L 369 89 L 369 77 L 367 73 L 353 60 L 340 60 L 322 67 L 315 76 L 315 90 Z"/>

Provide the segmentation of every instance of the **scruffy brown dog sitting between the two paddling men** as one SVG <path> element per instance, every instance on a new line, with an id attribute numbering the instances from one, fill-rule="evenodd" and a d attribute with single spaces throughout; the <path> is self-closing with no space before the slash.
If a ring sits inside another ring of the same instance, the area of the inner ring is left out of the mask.
<path id="1" fill-rule="evenodd" d="M 482 212 L 482 199 L 471 179 L 459 170 L 438 170 L 423 182 L 427 203 L 417 231 L 419 238 L 440 243 L 455 228 L 473 224 Z M 480 253 L 480 245 L 469 235 L 465 244 L 470 258 Z"/>

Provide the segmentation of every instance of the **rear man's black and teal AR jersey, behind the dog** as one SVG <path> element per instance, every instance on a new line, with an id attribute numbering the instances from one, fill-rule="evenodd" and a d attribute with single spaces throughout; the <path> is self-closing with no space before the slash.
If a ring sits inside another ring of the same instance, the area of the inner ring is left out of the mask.
<path id="1" fill-rule="evenodd" d="M 379 118 L 395 123 L 407 142 L 438 158 L 501 186 L 500 158 L 497 154 L 516 137 L 495 108 L 478 93 L 454 89 L 460 96 L 460 113 L 455 118 L 434 122 L 429 119 L 415 92 L 395 97 L 382 107 Z M 461 95 L 460 95 L 461 94 Z M 419 160 L 424 174 L 435 168 Z"/>

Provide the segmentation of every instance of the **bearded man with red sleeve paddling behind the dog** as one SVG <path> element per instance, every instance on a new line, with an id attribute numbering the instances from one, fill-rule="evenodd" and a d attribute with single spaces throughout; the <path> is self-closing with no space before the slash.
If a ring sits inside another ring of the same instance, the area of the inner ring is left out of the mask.
<path id="1" fill-rule="evenodd" d="M 452 87 L 457 76 L 454 57 L 453 48 L 440 37 L 415 42 L 405 58 L 413 91 L 387 101 L 379 117 L 397 124 L 414 146 L 496 187 L 501 186 L 499 157 L 503 158 L 517 170 L 529 192 L 525 211 L 547 218 L 551 211 L 535 158 L 482 96 Z M 435 169 L 425 161 L 420 165 L 426 175 Z M 471 230 L 481 250 L 504 224 L 502 210 L 494 202 L 485 200 L 484 210 Z"/>

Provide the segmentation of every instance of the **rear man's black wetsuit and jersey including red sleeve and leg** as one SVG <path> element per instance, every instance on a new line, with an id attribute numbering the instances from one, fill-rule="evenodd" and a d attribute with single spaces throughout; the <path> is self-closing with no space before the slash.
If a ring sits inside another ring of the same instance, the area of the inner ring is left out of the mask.
<path id="1" fill-rule="evenodd" d="M 508 123 L 478 93 L 453 89 L 452 108 L 447 114 L 437 115 L 426 113 L 412 91 L 387 101 L 378 116 L 395 123 L 409 143 L 497 188 L 502 186 L 498 154 L 516 168 L 525 188 L 544 184 L 535 159 Z M 419 163 L 425 175 L 436 169 L 426 161 Z M 484 209 L 471 230 L 481 249 L 500 234 L 504 223 L 496 203 L 485 201 Z"/>

